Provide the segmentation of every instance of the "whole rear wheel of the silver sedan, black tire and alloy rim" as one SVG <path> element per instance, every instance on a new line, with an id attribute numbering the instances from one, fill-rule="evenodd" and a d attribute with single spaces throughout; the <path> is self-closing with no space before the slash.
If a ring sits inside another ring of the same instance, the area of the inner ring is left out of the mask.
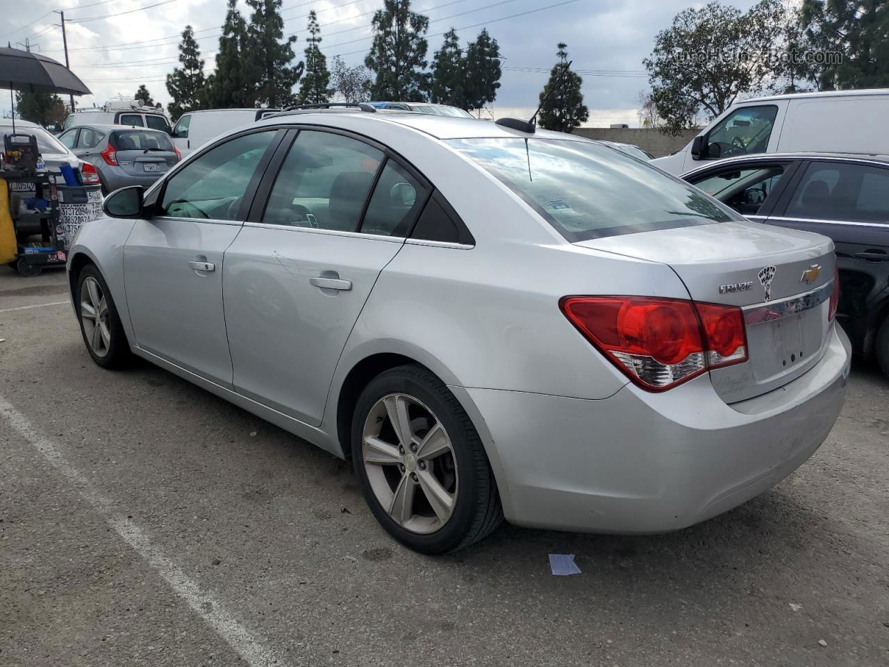
<path id="1" fill-rule="evenodd" d="M 352 454 L 373 515 L 413 550 L 445 553 L 503 518 L 478 433 L 460 402 L 421 366 L 378 375 L 358 398 Z"/>

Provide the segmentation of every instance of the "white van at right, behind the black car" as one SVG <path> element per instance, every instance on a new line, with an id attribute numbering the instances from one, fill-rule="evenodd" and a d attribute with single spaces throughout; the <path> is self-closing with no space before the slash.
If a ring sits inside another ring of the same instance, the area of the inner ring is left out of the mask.
<path id="1" fill-rule="evenodd" d="M 735 102 L 684 149 L 650 164 L 677 176 L 755 153 L 889 154 L 889 88 L 798 92 Z"/>

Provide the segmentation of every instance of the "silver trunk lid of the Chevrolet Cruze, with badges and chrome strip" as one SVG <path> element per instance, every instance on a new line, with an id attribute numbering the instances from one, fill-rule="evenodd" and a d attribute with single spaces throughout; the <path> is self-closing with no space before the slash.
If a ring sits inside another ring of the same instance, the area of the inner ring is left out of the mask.
<path id="1" fill-rule="evenodd" d="M 726 403 L 796 379 L 826 349 L 836 262 L 828 237 L 739 221 L 595 238 L 577 245 L 668 264 L 694 301 L 743 309 L 748 361 L 710 371 Z"/>

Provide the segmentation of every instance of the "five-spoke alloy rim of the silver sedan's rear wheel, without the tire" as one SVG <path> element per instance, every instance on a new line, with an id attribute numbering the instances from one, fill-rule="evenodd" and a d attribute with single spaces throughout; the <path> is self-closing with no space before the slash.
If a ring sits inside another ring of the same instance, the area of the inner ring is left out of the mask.
<path id="1" fill-rule="evenodd" d="M 402 393 L 380 398 L 364 420 L 362 456 L 373 494 L 399 526 L 445 526 L 459 479 L 451 438 L 427 406 Z"/>

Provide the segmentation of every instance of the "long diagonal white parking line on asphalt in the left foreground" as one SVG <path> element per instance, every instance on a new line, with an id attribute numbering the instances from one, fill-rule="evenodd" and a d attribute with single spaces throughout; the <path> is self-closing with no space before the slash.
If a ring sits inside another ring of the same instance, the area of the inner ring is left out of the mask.
<path id="1" fill-rule="evenodd" d="M 36 430 L 28 421 L 28 417 L 16 410 L 2 396 L 0 396 L 0 415 L 3 415 L 10 423 L 12 430 L 28 440 L 52 467 L 76 486 L 84 500 L 104 516 L 108 525 L 115 529 L 124 542 L 129 544 L 143 559 L 146 559 L 148 565 L 153 567 L 157 574 L 164 577 L 164 581 L 170 584 L 179 597 L 188 603 L 188 607 L 201 615 L 204 621 L 222 639 L 225 639 L 247 664 L 251 667 L 269 667 L 270 665 L 285 667 L 284 661 L 280 660 L 273 651 L 263 645 L 260 639 L 254 637 L 250 631 L 238 623 L 235 616 L 231 615 L 218 599 L 213 598 L 189 579 L 188 575 L 167 557 L 163 550 L 151 542 L 151 538 L 144 530 L 136 526 L 131 519 L 117 513 L 115 504 L 93 488 L 83 473 L 65 460 L 52 440 Z"/>

